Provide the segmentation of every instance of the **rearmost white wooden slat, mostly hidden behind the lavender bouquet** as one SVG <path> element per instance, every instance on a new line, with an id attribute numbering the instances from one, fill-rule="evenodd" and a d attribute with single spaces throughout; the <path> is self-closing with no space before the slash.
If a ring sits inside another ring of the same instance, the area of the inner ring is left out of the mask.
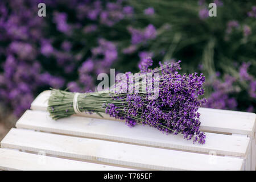
<path id="1" fill-rule="evenodd" d="M 47 109 L 47 100 L 51 94 L 46 90 L 32 102 L 32 110 Z M 201 130 L 220 133 L 237 133 L 251 135 L 254 138 L 256 115 L 240 111 L 228 111 L 219 109 L 200 108 Z M 100 118 L 97 114 L 83 114 L 86 117 Z M 105 119 L 112 119 L 107 114 L 103 114 Z"/>

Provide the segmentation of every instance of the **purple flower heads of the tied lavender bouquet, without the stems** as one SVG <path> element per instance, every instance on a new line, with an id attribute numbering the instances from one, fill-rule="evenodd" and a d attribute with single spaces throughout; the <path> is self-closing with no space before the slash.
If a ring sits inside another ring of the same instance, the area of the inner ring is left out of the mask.
<path id="1" fill-rule="evenodd" d="M 197 96 L 204 94 L 202 86 L 205 78 L 203 74 L 198 76 L 197 73 L 188 76 L 179 75 L 176 72 L 180 69 L 179 63 L 180 61 L 161 65 L 163 81 L 160 82 L 159 97 L 156 100 L 147 100 L 139 93 L 127 94 L 126 97 L 117 96 L 113 99 L 115 101 L 126 99 L 127 107 L 122 109 L 121 105 L 107 104 L 105 112 L 111 117 L 125 119 L 130 127 L 134 126 L 135 122 L 141 121 L 143 125 L 150 125 L 160 131 L 174 135 L 180 133 L 184 139 L 193 138 L 193 142 L 205 143 L 205 134 L 199 129 L 200 114 L 197 113 L 203 102 L 197 100 Z M 150 65 L 152 60 L 148 58 L 143 62 L 141 72 L 158 72 L 155 71 L 156 69 L 148 69 Z"/>

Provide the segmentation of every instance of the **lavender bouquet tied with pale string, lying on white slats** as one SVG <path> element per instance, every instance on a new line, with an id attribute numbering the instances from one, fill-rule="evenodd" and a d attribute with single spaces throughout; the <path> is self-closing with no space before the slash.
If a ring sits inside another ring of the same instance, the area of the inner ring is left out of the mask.
<path id="1" fill-rule="evenodd" d="M 154 78 L 142 83 L 135 80 L 130 86 L 133 79 L 126 73 L 129 88 L 119 81 L 116 83 L 119 89 L 114 92 L 72 93 L 53 89 L 47 110 L 53 119 L 82 112 L 100 116 L 107 113 L 110 117 L 125 120 L 130 127 L 150 125 L 163 133 L 181 134 L 184 139 L 204 144 L 205 134 L 200 131 L 197 110 L 205 102 L 204 98 L 199 99 L 204 94 L 205 77 L 197 73 L 180 75 L 177 72 L 181 69 L 179 63 L 159 63 L 159 68 L 150 69 L 152 60 L 148 57 L 141 64 L 138 75 L 154 75 Z M 135 89 L 150 82 L 154 82 L 154 86 L 142 91 Z"/>

